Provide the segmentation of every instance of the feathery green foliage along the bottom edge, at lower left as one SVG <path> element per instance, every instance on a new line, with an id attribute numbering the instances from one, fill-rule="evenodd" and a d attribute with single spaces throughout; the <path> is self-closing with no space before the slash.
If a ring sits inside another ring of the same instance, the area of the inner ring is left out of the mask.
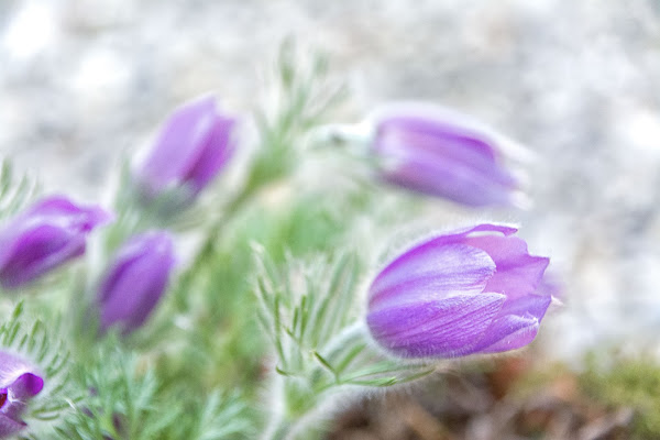
<path id="1" fill-rule="evenodd" d="M 148 360 L 109 337 L 78 367 L 88 391 L 63 439 L 242 439 L 252 432 L 246 405 L 237 394 L 190 393 L 185 384 L 163 386 Z"/>

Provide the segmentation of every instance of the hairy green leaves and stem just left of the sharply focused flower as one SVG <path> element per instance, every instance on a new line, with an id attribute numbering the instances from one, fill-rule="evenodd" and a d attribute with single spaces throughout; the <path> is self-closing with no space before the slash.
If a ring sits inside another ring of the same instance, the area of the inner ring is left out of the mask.
<path id="1" fill-rule="evenodd" d="M 282 427 L 310 413 L 329 395 L 351 387 L 383 387 L 406 383 L 433 371 L 424 363 L 387 359 L 369 342 L 356 319 L 360 262 L 342 254 L 331 261 L 288 258 L 280 271 L 255 248 L 254 290 L 258 320 L 271 339 L 284 406 L 272 438 Z M 286 430 L 286 429 L 285 429 Z"/>

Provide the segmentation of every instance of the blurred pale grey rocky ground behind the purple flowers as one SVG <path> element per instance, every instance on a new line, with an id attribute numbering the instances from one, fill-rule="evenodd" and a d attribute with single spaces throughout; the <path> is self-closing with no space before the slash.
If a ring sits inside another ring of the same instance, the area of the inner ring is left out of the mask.
<path id="1" fill-rule="evenodd" d="M 496 216 L 563 279 L 566 307 L 541 334 L 551 352 L 657 343 L 656 0 L 0 0 L 0 154 L 91 199 L 182 101 L 215 91 L 255 108 L 289 35 L 345 76 L 346 118 L 431 100 L 536 152 L 534 209 Z"/>

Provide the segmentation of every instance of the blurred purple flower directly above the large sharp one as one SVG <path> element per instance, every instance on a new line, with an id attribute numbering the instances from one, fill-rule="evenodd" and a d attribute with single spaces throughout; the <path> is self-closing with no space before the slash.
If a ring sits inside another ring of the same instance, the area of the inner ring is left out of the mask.
<path id="1" fill-rule="evenodd" d="M 392 184 L 472 207 L 515 205 L 518 183 L 502 165 L 504 142 L 466 116 L 399 106 L 376 118 L 373 151 Z"/>

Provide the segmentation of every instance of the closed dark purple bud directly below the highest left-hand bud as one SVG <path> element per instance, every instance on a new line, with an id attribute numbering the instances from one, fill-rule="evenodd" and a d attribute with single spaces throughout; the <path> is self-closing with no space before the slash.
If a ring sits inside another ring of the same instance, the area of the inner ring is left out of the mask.
<path id="1" fill-rule="evenodd" d="M 124 243 L 99 286 L 101 331 L 119 326 L 130 333 L 142 326 L 165 292 L 174 263 L 167 232 L 146 232 Z"/>

